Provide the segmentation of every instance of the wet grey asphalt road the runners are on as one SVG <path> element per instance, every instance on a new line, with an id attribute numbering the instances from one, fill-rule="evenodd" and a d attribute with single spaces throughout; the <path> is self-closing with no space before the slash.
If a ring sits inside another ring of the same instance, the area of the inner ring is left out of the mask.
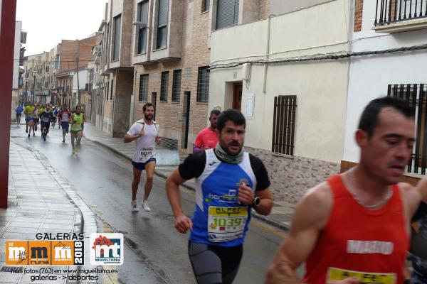
<path id="1" fill-rule="evenodd" d="M 196 283 L 186 252 L 188 235 L 174 229 L 163 178 L 154 177 L 149 197 L 152 212 L 131 212 L 132 165 L 129 161 L 85 138 L 78 155 L 71 155 L 70 136 L 68 134 L 62 143 L 58 126 L 51 128 L 46 142 L 40 135 L 40 131 L 36 131 L 36 136 L 27 138 L 25 125 L 11 126 L 14 141 L 30 145 L 46 155 L 102 220 L 102 225 L 125 235 L 130 247 L 126 250 L 125 264 L 119 269 L 119 283 Z M 143 172 L 138 200 L 143 197 L 144 180 Z M 181 203 L 184 212 L 191 216 L 194 192 L 182 189 Z M 234 283 L 263 283 L 265 271 L 284 236 L 283 231 L 252 220 Z M 149 269 L 144 268 L 144 273 L 138 274 L 141 266 Z M 146 271 L 152 274 L 147 275 Z"/>

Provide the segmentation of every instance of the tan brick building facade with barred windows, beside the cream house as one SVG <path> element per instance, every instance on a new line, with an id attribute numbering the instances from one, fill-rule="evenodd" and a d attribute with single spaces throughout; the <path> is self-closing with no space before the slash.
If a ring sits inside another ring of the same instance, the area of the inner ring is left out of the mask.
<path id="1" fill-rule="evenodd" d="M 174 5 L 173 2 L 170 1 L 170 5 Z M 136 92 L 133 121 L 142 119 L 142 106 L 146 102 L 154 103 L 157 109 L 156 121 L 161 126 L 161 136 L 168 138 L 166 140 L 171 148 L 176 146 L 183 151 L 192 151 L 192 143 L 197 133 L 206 127 L 209 112 L 207 100 L 200 97 L 197 99 L 199 68 L 209 67 L 210 56 L 209 9 L 204 11 L 202 2 L 184 1 L 181 9 L 171 7 L 168 29 L 171 33 L 175 29 L 176 38 L 171 36 L 167 51 L 172 53 L 174 48 L 179 50 L 174 58 L 166 55 L 152 60 L 157 56 L 154 53 L 158 52 L 154 37 L 152 44 L 147 48 L 151 58 L 147 60 L 146 57 L 145 61 L 138 62 L 137 56 L 134 57 L 134 62 L 141 65 L 135 65 Z M 137 12 L 137 9 L 134 10 Z M 157 20 L 155 7 L 152 8 L 152 12 L 153 10 L 152 26 Z M 132 37 L 134 40 L 137 40 L 136 31 L 137 28 L 134 29 Z M 148 79 L 148 86 L 145 89 L 141 86 L 144 80 L 142 76 L 147 76 L 145 78 Z M 209 77 L 205 79 L 209 80 Z M 189 96 L 188 106 L 187 96 Z M 186 119 L 187 107 L 189 107 L 188 120 Z M 186 124 L 188 124 L 188 132 L 186 132 Z"/>

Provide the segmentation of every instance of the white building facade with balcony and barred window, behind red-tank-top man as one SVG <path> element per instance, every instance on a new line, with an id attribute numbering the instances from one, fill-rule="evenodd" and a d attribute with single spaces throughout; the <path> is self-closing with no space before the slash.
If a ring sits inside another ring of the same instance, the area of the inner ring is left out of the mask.
<path id="1" fill-rule="evenodd" d="M 420 139 L 414 148 L 407 175 L 424 174 L 427 46 L 423 45 L 427 45 L 427 1 L 353 0 L 351 6 L 354 9 L 351 52 L 359 54 L 382 50 L 384 53 L 351 59 L 342 162 L 349 166 L 359 162 L 354 131 L 366 104 L 371 99 L 391 95 L 408 99 L 416 109 L 417 135 Z M 403 48 L 404 51 L 392 52 L 396 48 Z"/>

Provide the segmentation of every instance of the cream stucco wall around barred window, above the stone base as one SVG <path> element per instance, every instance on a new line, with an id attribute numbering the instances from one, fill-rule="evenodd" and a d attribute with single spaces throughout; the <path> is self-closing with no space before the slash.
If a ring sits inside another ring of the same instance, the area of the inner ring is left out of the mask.
<path id="1" fill-rule="evenodd" d="M 339 0 L 272 18 L 270 58 L 348 50 L 348 17 L 347 1 Z M 265 58 L 267 28 L 265 20 L 215 31 L 211 65 Z M 274 97 L 297 95 L 295 155 L 339 163 L 344 147 L 348 68 L 347 60 L 269 65 L 264 93 L 265 66 L 252 65 L 250 80 L 243 81 L 243 97 L 255 95 L 253 119 L 247 120 L 246 145 L 271 151 Z M 241 70 L 211 70 L 209 109 L 216 105 L 231 108 L 231 82 L 241 81 Z"/>

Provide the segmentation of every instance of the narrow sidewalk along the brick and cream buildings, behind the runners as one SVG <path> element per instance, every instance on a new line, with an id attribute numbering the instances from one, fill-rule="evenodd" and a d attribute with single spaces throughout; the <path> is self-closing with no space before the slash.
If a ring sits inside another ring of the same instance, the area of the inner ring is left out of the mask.
<path id="1" fill-rule="evenodd" d="M 94 143 L 97 143 L 104 148 L 107 148 L 117 155 L 122 156 L 122 158 L 132 160 L 132 155 L 135 151 L 135 142 L 123 143 L 122 138 L 112 138 L 107 133 L 100 131 L 100 129 L 97 129 L 95 126 L 93 126 L 93 124 L 90 123 L 85 124 L 85 131 L 83 132 L 83 135 L 85 138 L 88 138 L 88 140 L 93 141 Z M 160 151 L 164 150 L 166 149 L 160 148 Z M 170 152 L 172 153 L 176 151 Z M 185 157 L 186 155 L 179 154 L 179 160 L 182 161 Z M 177 165 L 159 165 L 159 163 L 157 163 L 155 174 L 162 178 L 167 178 L 172 173 L 172 171 L 176 169 L 176 167 Z M 194 179 L 187 180 L 182 186 L 194 191 Z M 279 229 L 288 230 L 294 209 L 295 204 L 290 204 L 289 202 L 285 201 L 274 201 L 273 210 L 270 215 L 263 216 L 253 210 L 253 217 L 260 219 L 272 226 L 278 227 Z"/>

